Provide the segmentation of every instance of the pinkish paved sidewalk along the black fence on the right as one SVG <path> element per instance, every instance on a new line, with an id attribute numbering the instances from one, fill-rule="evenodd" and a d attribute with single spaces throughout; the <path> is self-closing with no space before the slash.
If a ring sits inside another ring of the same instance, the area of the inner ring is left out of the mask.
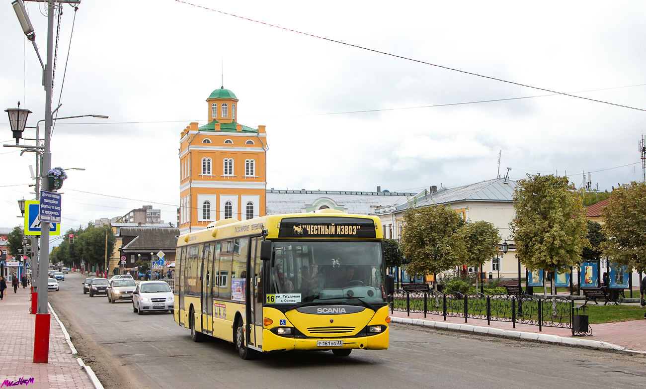
<path id="1" fill-rule="evenodd" d="M 406 312 L 395 311 L 391 314 L 393 317 L 402 317 L 409 319 L 424 319 L 424 313 L 410 313 L 410 316 Z M 435 322 L 445 322 L 445 323 L 455 323 L 455 324 L 465 324 L 464 317 L 446 317 L 444 321 L 444 316 L 441 315 L 430 315 L 426 314 L 427 321 Z M 561 337 L 572 337 L 572 330 L 569 328 L 554 328 L 554 327 L 543 327 L 543 331 L 539 331 L 538 326 L 532 326 L 530 324 L 519 324 L 516 323 L 516 328 L 513 327 L 512 322 L 495 322 L 492 321 L 491 325 L 488 326 L 486 319 L 472 319 L 468 318 L 468 322 L 471 326 L 481 326 L 487 328 L 499 328 L 501 330 L 508 331 L 521 331 L 525 333 L 543 333 L 545 335 L 557 335 Z M 603 324 L 590 324 L 592 328 L 591 337 L 576 337 L 578 339 L 587 339 L 590 341 L 599 341 L 616 344 L 630 350 L 636 350 L 640 352 L 646 352 L 646 320 L 632 320 L 625 322 L 616 322 L 616 323 L 603 323 Z"/>

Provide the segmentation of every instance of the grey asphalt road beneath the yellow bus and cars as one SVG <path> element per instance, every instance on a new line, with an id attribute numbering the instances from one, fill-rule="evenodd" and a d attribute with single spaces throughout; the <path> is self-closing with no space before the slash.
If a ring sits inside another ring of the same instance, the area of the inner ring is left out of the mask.
<path id="1" fill-rule="evenodd" d="M 83 277 L 84 278 L 84 277 Z M 646 388 L 646 358 L 394 324 L 389 350 L 287 352 L 243 361 L 193 343 L 169 313 L 83 295 L 67 275 L 50 302 L 85 363 L 111 388 Z"/>

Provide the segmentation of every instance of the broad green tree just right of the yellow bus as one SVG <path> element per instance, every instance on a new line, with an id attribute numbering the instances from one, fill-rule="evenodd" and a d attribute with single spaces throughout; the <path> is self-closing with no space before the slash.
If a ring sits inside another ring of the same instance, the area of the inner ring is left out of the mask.
<path id="1" fill-rule="evenodd" d="M 450 207 L 408 209 L 401 238 L 403 254 L 410 260 L 406 271 L 416 276 L 435 275 L 458 266 L 464 249 L 456 232 L 463 224 L 463 218 Z"/>

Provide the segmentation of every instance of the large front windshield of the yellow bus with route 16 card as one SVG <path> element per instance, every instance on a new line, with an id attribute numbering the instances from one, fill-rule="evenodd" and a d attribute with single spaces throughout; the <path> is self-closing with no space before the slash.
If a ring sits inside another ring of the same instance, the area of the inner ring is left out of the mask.
<path id="1" fill-rule="evenodd" d="M 274 242 L 269 293 L 289 302 L 384 302 L 380 242 Z M 300 297 L 298 297 L 300 294 Z M 280 299 L 276 303 L 280 303 Z"/>

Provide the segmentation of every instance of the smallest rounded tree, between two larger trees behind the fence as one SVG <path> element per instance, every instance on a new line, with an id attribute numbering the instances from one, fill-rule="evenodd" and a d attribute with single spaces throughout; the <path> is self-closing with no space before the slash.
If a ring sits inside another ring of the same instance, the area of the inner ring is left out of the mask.
<path id="1" fill-rule="evenodd" d="M 498 253 L 498 243 L 503 240 L 494 224 L 479 220 L 467 221 L 458 231 L 464 244 L 464 263 L 479 269 L 486 261 Z M 477 272 L 477 271 L 476 271 Z M 475 289 L 478 289 L 480 277 L 475 277 Z"/>

